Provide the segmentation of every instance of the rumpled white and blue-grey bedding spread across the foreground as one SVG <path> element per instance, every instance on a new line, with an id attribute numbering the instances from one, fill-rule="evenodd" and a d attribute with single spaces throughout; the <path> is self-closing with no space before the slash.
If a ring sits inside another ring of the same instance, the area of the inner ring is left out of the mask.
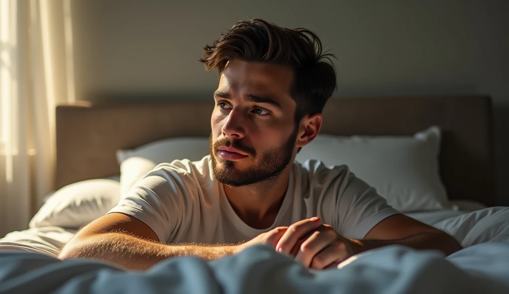
<path id="1" fill-rule="evenodd" d="M 509 293 L 509 208 L 427 222 L 466 248 L 445 257 L 387 246 L 326 271 L 309 271 L 266 246 L 212 262 L 179 257 L 147 272 L 125 271 L 99 261 L 56 259 L 74 230 L 34 228 L 0 240 L 0 293 Z"/>

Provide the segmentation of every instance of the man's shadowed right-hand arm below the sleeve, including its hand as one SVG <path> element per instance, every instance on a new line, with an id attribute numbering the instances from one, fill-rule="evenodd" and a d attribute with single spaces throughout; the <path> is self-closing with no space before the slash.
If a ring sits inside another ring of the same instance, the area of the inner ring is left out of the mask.
<path id="1" fill-rule="evenodd" d="M 398 214 L 382 220 L 362 240 L 341 236 L 319 218 L 302 220 L 289 227 L 276 250 L 295 256 L 307 267 L 324 269 L 357 253 L 395 244 L 440 250 L 447 255 L 462 249 L 449 234 Z"/>

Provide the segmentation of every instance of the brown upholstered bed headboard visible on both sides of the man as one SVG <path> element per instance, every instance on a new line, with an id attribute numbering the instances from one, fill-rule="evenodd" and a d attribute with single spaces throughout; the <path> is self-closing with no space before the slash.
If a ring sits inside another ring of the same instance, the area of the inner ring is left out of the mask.
<path id="1" fill-rule="evenodd" d="M 58 106 L 55 188 L 119 174 L 118 149 L 209 136 L 213 107 L 213 100 Z M 431 125 L 443 131 L 440 174 L 449 198 L 496 205 L 488 96 L 331 98 L 321 133 L 413 135 Z"/>

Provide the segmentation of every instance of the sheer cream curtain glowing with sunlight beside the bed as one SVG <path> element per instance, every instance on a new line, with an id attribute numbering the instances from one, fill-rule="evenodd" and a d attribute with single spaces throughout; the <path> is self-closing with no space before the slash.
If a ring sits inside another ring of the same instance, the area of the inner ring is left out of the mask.
<path id="1" fill-rule="evenodd" d="M 53 189 L 55 106 L 74 101 L 70 0 L 0 0 L 0 237 Z"/>

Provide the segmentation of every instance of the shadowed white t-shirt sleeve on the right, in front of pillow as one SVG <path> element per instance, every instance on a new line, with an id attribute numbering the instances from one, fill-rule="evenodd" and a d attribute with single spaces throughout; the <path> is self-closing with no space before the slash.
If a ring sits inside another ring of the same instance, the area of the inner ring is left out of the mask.
<path id="1" fill-rule="evenodd" d="M 342 183 L 336 186 L 337 228 L 345 237 L 362 239 L 380 221 L 400 212 L 387 204 L 375 188 L 346 170 Z"/>

